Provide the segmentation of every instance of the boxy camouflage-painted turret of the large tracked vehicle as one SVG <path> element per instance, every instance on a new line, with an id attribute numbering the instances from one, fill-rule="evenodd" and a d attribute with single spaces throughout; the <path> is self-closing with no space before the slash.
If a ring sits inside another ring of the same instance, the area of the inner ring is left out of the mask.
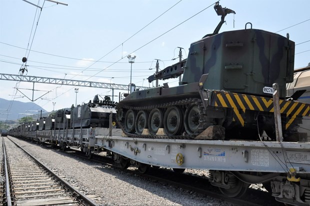
<path id="1" fill-rule="evenodd" d="M 272 96 L 263 87 L 280 86 L 293 78 L 294 42 L 259 29 L 225 31 L 193 42 L 189 48 L 182 81 L 197 82 L 209 76 L 205 89 Z"/>

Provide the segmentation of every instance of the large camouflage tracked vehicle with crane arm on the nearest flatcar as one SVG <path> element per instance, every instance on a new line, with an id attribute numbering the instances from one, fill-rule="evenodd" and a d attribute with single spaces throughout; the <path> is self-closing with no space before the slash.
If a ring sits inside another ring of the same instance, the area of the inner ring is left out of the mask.
<path id="1" fill-rule="evenodd" d="M 284 140 L 295 138 L 310 107 L 294 101 L 296 96 L 285 97 L 285 84 L 293 80 L 294 42 L 250 23 L 250 28 L 218 33 L 225 15 L 234 11 L 218 2 L 214 9 L 221 15 L 214 32 L 191 43 L 187 59 L 148 78 L 183 73 L 178 86 L 164 83 L 134 91 L 117 104 L 118 124 L 126 135 L 257 139 L 265 130 L 274 139 L 272 84 L 277 83 Z"/>

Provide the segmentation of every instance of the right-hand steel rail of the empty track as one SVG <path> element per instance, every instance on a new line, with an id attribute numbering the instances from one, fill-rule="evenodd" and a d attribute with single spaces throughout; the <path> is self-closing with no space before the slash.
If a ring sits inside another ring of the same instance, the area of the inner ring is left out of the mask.
<path id="1" fill-rule="evenodd" d="M 55 177 L 55 179 L 58 182 L 60 182 L 60 184 L 62 183 L 77 200 L 82 200 L 87 205 L 90 205 L 90 206 L 97 206 L 98 205 L 95 202 L 93 202 L 90 198 L 88 198 L 86 195 L 84 195 L 83 193 L 79 192 L 74 187 L 72 187 L 67 181 L 65 181 L 64 179 L 60 178 L 57 174 L 55 174 L 53 171 L 51 171 L 49 168 L 47 168 L 43 163 L 41 163 L 38 159 L 36 159 L 29 152 L 27 152 L 25 149 L 23 149 L 19 144 L 17 144 L 16 142 L 14 142 L 10 138 L 8 138 L 8 139 L 11 140 L 17 147 L 21 148 L 26 154 L 28 154 L 35 162 L 37 162 L 40 166 L 42 166 L 47 172 L 52 174 L 53 177 Z"/>

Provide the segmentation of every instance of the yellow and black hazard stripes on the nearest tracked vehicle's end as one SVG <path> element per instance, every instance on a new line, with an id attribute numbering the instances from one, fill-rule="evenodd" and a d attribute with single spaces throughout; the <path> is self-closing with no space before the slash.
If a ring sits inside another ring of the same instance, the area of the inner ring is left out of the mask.
<path id="1" fill-rule="evenodd" d="M 279 100 L 280 112 L 288 118 L 287 129 L 297 116 L 310 116 L 310 104 L 292 100 Z M 213 90 L 209 105 L 233 109 L 233 120 L 244 126 L 245 110 L 273 112 L 273 99 L 262 96 Z"/>

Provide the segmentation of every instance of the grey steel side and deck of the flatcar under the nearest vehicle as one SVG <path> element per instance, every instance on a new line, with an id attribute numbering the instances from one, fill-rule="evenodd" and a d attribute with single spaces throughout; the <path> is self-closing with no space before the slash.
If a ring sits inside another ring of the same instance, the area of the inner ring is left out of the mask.
<path id="1" fill-rule="evenodd" d="M 163 167 L 310 173 L 309 142 L 96 136 L 95 145 Z"/>

